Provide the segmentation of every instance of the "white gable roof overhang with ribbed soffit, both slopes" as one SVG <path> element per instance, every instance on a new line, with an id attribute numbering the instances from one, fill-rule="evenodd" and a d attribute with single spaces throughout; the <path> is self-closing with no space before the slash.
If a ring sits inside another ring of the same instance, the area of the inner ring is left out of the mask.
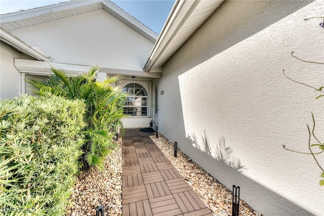
<path id="1" fill-rule="evenodd" d="M 143 35 L 143 37 L 155 43 L 157 34 L 154 31 L 143 25 L 125 11 L 121 10 L 112 2 L 104 0 L 70 1 L 20 12 L 3 14 L 0 15 L 0 23 L 5 30 L 11 31 L 100 9 L 107 11 L 109 14 Z"/>

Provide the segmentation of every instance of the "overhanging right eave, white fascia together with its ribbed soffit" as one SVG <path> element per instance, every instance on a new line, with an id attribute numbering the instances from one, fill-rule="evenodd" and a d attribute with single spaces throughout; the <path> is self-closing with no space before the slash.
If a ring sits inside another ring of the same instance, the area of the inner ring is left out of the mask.
<path id="1" fill-rule="evenodd" d="M 223 2 L 224 0 L 176 1 L 144 70 L 153 71 L 163 66 Z"/>

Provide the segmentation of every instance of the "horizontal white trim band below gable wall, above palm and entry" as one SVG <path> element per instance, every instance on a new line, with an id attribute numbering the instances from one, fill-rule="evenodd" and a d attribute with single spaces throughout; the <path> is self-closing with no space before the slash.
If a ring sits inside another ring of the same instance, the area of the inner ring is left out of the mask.
<path id="1" fill-rule="evenodd" d="M 36 60 L 15 59 L 15 67 L 22 73 L 28 74 L 52 74 L 51 66 L 54 68 L 60 68 L 65 70 L 67 74 L 77 75 L 84 71 L 88 71 L 91 66 L 87 65 L 75 65 L 75 64 L 63 64 L 54 62 L 44 62 Z M 101 67 L 100 73 L 106 73 L 111 75 L 122 76 L 136 76 L 136 77 L 148 77 L 148 78 L 161 78 L 161 73 L 146 73 L 142 70 L 127 70 Z"/>

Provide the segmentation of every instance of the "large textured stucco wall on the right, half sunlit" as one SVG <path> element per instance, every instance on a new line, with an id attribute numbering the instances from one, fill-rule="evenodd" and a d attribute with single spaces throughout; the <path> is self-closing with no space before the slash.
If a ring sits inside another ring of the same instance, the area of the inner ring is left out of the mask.
<path id="1" fill-rule="evenodd" d="M 291 56 L 323 62 L 322 20 L 304 21 L 323 12 L 322 1 L 226 1 L 159 80 L 159 131 L 227 188 L 240 186 L 241 198 L 263 215 L 324 212 L 314 159 L 281 146 L 309 152 L 311 112 L 324 139 L 323 98 L 282 73 L 323 85 L 323 65 Z M 215 152 L 221 137 L 233 150 L 226 162 Z M 317 157 L 322 165 L 323 158 Z"/>

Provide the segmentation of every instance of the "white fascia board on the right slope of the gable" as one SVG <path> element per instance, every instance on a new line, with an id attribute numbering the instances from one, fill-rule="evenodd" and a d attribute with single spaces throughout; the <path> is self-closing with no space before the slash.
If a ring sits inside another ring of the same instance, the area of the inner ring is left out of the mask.
<path id="1" fill-rule="evenodd" d="M 110 2 L 110 1 L 102 1 L 101 3 L 103 5 L 105 5 L 106 7 L 110 8 L 112 11 L 114 11 L 115 13 L 120 15 L 121 17 L 125 18 L 127 21 L 129 21 L 130 23 L 132 23 L 133 25 L 135 25 L 136 27 L 138 27 L 139 29 L 141 29 L 142 31 L 147 33 L 148 35 L 150 35 L 155 40 L 157 39 L 158 34 L 156 34 L 154 31 L 149 29 L 143 23 L 141 23 L 140 21 L 138 21 L 137 19 L 135 19 L 134 17 L 132 17 L 131 15 L 129 15 L 128 13 L 126 13 L 125 11 L 120 9 L 119 7 L 117 7 L 112 2 Z"/>

